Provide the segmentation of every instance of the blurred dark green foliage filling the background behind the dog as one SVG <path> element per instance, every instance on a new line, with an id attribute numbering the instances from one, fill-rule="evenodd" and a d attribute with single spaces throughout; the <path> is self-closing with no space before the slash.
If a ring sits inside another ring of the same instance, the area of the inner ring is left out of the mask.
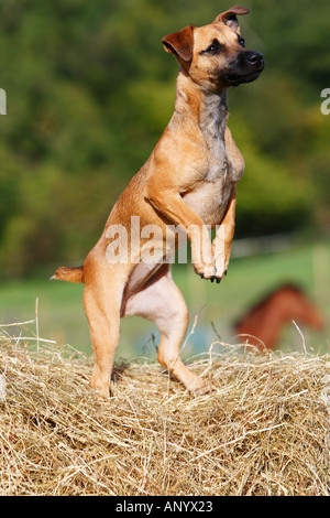
<path id="1" fill-rule="evenodd" d="M 327 231 L 330 223 L 330 3 L 246 0 L 260 79 L 230 91 L 246 163 L 237 237 Z M 0 7 L 0 271 L 82 260 L 174 106 L 177 64 L 163 35 L 209 23 L 208 0 L 7 0 Z"/>

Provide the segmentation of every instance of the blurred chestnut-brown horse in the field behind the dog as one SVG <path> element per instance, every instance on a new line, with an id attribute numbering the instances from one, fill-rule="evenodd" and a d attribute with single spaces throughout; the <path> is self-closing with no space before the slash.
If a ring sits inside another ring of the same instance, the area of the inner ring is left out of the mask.
<path id="1" fill-rule="evenodd" d="M 318 309 L 307 299 L 300 288 L 284 284 L 254 305 L 235 324 L 240 338 L 246 339 L 261 350 L 273 349 L 284 325 L 289 321 L 323 328 L 324 322 Z"/>

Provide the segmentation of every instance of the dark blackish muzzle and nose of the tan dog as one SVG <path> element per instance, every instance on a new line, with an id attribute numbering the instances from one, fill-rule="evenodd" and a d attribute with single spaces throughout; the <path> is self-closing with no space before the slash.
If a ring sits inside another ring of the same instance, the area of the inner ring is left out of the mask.
<path id="1" fill-rule="evenodd" d="M 260 52 L 241 52 L 230 68 L 221 71 L 221 80 L 238 86 L 255 80 L 265 67 L 264 56 Z"/>

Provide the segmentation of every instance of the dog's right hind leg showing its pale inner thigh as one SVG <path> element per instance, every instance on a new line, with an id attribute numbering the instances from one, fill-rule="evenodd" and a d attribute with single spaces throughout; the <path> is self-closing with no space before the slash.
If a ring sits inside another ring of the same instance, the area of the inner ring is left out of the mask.
<path id="1" fill-rule="evenodd" d="M 140 315 L 152 321 L 161 333 L 158 361 L 191 392 L 209 389 L 180 358 L 180 344 L 188 327 L 188 310 L 184 296 L 172 279 L 168 265 L 129 296 L 123 316 Z"/>

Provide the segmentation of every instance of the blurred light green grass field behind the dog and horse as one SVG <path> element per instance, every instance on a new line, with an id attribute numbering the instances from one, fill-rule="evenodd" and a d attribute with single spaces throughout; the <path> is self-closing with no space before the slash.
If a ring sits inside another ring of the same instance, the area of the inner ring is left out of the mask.
<path id="1" fill-rule="evenodd" d="M 40 337 L 91 354 L 89 331 L 82 311 L 82 285 L 50 281 L 53 271 L 44 278 L 0 284 L 0 324 L 35 319 Z M 232 323 L 270 290 L 283 282 L 296 282 L 311 296 L 327 320 L 324 332 L 301 327 L 309 349 L 329 352 L 330 341 L 330 245 L 299 246 L 293 249 L 232 259 L 228 276 L 220 283 L 201 281 L 191 265 L 174 266 L 173 277 L 182 289 L 190 314 L 190 327 L 198 314 L 197 325 L 185 346 L 184 356 L 206 352 L 217 339 L 211 323 L 223 341 L 233 342 Z M 35 324 L 3 327 L 11 335 L 33 336 Z M 153 324 L 140 319 L 123 319 L 118 358 L 155 356 L 152 335 L 157 343 Z M 288 325 L 283 334 L 282 348 L 300 347 L 301 337 L 295 326 Z"/>

